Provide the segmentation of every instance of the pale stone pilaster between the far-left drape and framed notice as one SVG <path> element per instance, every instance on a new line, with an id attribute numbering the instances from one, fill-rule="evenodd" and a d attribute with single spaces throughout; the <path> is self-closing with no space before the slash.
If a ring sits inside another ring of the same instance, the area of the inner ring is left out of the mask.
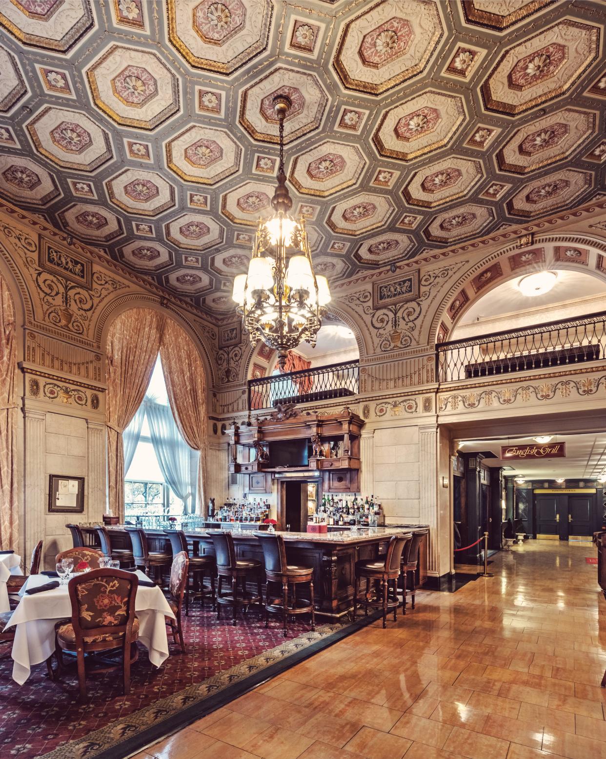
<path id="1" fill-rule="evenodd" d="M 46 515 L 46 414 L 24 408 L 24 541 L 23 564 L 45 538 Z M 42 553 L 43 553 L 42 549 Z"/>

